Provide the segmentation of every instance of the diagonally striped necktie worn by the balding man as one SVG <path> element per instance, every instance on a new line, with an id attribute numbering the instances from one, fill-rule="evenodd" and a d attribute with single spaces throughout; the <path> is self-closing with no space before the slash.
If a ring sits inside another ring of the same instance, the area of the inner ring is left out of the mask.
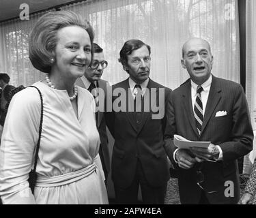
<path id="1" fill-rule="evenodd" d="M 197 131 L 200 136 L 201 129 L 203 125 L 203 103 L 201 99 L 201 91 L 203 91 L 203 88 L 201 86 L 197 87 L 197 98 L 195 99 L 195 106 L 194 106 L 194 112 L 195 112 L 195 123 L 197 125 Z"/>

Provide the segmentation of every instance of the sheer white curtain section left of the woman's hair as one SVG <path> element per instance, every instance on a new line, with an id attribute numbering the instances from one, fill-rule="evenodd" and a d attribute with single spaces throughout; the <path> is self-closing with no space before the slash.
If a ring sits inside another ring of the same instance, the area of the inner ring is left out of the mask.
<path id="1" fill-rule="evenodd" d="M 10 76 L 10 84 L 27 86 L 43 76 L 29 61 L 28 38 L 35 21 L 45 13 L 0 23 L 0 72 Z"/>

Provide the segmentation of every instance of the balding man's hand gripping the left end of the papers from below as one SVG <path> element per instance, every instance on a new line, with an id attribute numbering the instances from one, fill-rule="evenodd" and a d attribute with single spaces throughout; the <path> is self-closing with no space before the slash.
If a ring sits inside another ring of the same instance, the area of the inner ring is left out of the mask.
<path id="1" fill-rule="evenodd" d="M 179 149 L 175 153 L 175 159 L 177 160 L 179 167 L 184 170 L 193 168 L 196 162 L 201 162 L 201 159 L 192 157 L 190 151 L 185 149 Z"/>

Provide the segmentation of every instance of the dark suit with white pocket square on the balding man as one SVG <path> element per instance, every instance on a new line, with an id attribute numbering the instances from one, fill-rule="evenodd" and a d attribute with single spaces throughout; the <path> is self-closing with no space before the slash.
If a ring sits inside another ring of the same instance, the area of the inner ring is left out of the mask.
<path id="1" fill-rule="evenodd" d="M 218 111 L 226 111 L 227 116 L 216 117 Z M 217 193 L 207 194 L 210 203 L 236 204 L 240 198 L 237 159 L 249 153 L 253 147 L 253 129 L 242 86 L 236 82 L 212 76 L 201 136 L 197 133 L 193 114 L 190 80 L 172 92 L 170 113 L 171 135 L 178 134 L 193 141 L 210 141 L 221 146 L 223 161 L 203 162 L 201 172 L 204 174 L 204 183 L 202 185 L 205 191 L 217 191 Z M 169 158 L 179 170 L 180 200 L 182 204 L 197 204 L 201 195 L 196 176 L 199 166 L 195 164 L 190 170 L 178 168 L 173 160 L 175 149 L 171 140 Z M 229 183 L 225 184 L 226 181 L 233 182 L 233 198 L 225 197 L 225 189 L 229 187 Z"/>

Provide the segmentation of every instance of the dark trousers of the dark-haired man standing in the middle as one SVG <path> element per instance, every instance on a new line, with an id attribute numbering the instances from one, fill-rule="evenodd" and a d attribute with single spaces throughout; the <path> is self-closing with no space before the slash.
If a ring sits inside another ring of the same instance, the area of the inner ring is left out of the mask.
<path id="1" fill-rule="evenodd" d="M 167 183 L 161 187 L 152 187 L 147 183 L 141 162 L 137 162 L 137 170 L 132 185 L 127 189 L 115 187 L 115 200 L 117 204 L 138 204 L 138 191 L 141 186 L 143 204 L 165 204 Z"/>

